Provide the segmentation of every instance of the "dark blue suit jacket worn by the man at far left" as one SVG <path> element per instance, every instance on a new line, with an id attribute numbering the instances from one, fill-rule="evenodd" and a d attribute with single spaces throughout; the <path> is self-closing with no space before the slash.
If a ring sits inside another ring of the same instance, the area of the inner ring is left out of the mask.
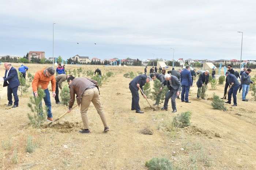
<path id="1" fill-rule="evenodd" d="M 16 68 L 11 67 L 10 71 L 7 74 L 7 70 L 5 70 L 5 74 L 4 74 L 4 85 L 5 86 L 10 86 L 11 88 L 17 87 L 19 86 L 19 78 L 18 78 L 18 72 L 16 70 Z M 9 84 L 7 83 L 7 81 L 9 82 Z"/>

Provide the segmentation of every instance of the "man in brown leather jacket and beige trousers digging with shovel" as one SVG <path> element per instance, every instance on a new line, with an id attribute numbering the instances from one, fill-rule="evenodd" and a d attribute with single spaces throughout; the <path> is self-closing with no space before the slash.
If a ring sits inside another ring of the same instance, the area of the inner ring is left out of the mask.
<path id="1" fill-rule="evenodd" d="M 79 133 L 90 134 L 87 110 L 91 102 L 93 102 L 95 109 L 101 117 L 101 121 L 104 125 L 103 132 L 108 132 L 108 122 L 106 120 L 104 110 L 102 109 L 101 101 L 99 100 L 99 87 L 97 86 L 98 82 L 89 78 L 74 78 L 73 76 L 69 76 L 67 81 L 69 84 L 70 94 L 67 112 L 71 112 L 72 106 L 75 102 L 75 95 L 78 106 L 81 104 L 80 113 L 83 120 L 84 129 L 79 131 Z"/>

